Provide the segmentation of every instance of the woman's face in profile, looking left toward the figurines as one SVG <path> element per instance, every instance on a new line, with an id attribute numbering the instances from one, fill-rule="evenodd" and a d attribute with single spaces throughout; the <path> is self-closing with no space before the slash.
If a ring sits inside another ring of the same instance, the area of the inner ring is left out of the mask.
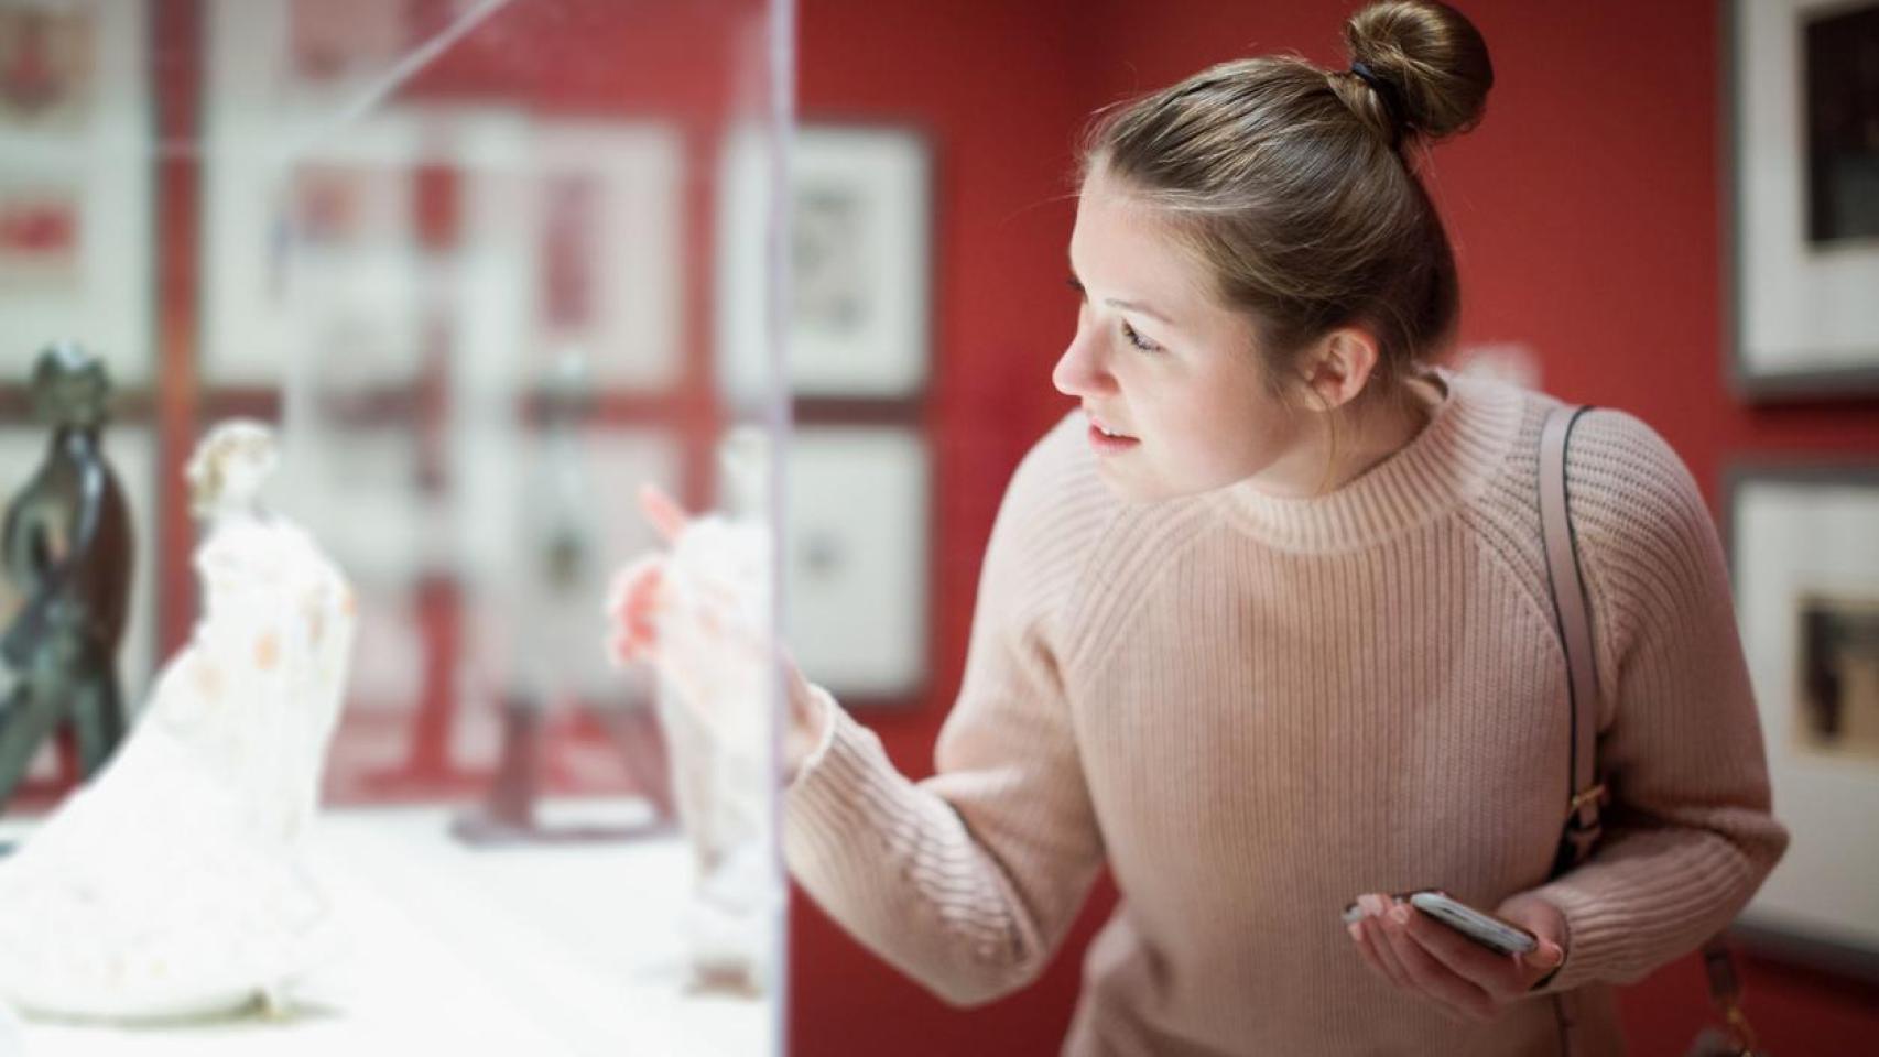
<path id="1" fill-rule="evenodd" d="M 1101 171 L 1082 186 L 1069 263 L 1082 306 L 1050 381 L 1082 402 L 1122 498 L 1246 479 L 1287 494 L 1287 481 L 1315 477 L 1312 415 L 1266 389 L 1251 321 L 1219 304 L 1199 259 Z"/>

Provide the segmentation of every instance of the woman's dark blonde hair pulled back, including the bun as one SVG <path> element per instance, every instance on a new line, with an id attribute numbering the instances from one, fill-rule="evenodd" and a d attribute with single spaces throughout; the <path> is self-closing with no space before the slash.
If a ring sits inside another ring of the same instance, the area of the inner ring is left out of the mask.
<path id="1" fill-rule="evenodd" d="M 1345 325 L 1377 342 L 1366 392 L 1400 396 L 1460 314 L 1447 231 L 1407 158 L 1479 124 L 1486 43 L 1432 0 L 1370 4 L 1343 39 L 1353 69 L 1225 62 L 1099 111 L 1082 145 L 1082 176 L 1157 212 L 1248 315 L 1280 396 L 1285 368 Z"/>

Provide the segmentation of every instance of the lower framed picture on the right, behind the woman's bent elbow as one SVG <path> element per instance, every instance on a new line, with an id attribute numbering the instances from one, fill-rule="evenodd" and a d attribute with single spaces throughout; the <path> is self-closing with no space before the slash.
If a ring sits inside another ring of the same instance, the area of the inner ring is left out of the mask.
<path id="1" fill-rule="evenodd" d="M 1879 978 L 1879 464 L 1729 479 L 1736 618 L 1793 845 L 1742 916 Z"/>

